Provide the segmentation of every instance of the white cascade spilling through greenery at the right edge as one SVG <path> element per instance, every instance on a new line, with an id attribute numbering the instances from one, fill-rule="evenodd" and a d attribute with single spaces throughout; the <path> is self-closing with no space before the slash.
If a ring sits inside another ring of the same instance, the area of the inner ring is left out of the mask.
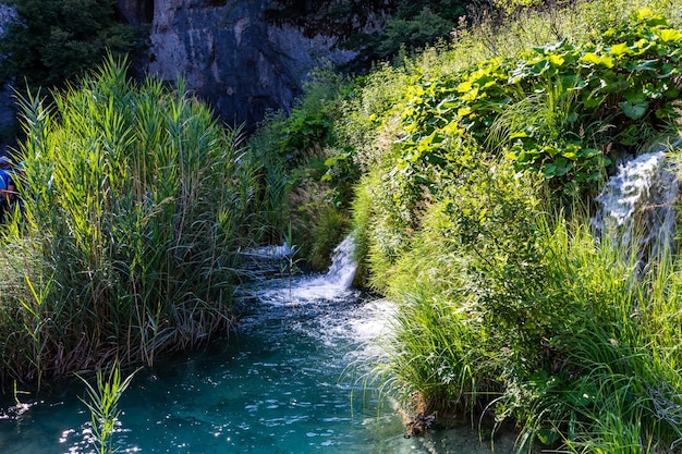
<path id="1" fill-rule="evenodd" d="M 656 257 L 672 245 L 679 182 L 666 159 L 669 149 L 661 146 L 621 163 L 595 198 L 598 237 L 612 238 L 617 247 L 637 247 L 640 259 Z M 638 244 L 633 245 L 635 238 Z"/>

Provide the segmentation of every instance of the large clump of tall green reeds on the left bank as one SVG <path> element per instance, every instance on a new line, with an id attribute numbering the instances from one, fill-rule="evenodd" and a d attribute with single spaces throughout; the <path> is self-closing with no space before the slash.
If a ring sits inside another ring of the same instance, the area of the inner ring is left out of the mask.
<path id="1" fill-rule="evenodd" d="M 109 59 L 20 100 L 24 213 L 3 226 L 0 383 L 151 364 L 224 333 L 258 211 L 239 128 Z"/>

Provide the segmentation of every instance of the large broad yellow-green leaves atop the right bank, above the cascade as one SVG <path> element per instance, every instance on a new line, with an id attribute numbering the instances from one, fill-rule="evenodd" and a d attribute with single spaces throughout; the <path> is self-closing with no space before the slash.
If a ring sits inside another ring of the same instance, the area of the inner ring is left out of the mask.
<path id="1" fill-rule="evenodd" d="M 572 187 L 594 182 L 608 163 L 599 146 L 619 139 L 631 146 L 621 132 L 632 122 L 656 128 L 657 121 L 679 114 L 672 102 L 680 94 L 681 45 L 681 30 L 642 9 L 626 25 L 604 30 L 599 41 L 562 40 L 535 47 L 522 60 L 492 59 L 447 79 L 415 84 L 402 115 L 410 137 L 401 142 L 403 174 L 451 165 L 452 137 L 459 136 Z M 508 126 L 501 133 L 506 143 L 494 145 L 491 126 L 524 103 L 535 103 L 540 113 L 536 109 L 525 125 Z M 585 125 L 607 116 L 616 126 L 602 143 L 589 142 L 594 137 L 585 135 Z"/>

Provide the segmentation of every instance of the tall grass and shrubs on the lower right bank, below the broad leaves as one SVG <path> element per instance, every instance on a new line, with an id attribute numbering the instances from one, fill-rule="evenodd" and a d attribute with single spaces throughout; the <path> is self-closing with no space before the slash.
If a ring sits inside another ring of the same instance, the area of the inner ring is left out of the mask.
<path id="1" fill-rule="evenodd" d="M 400 310 L 390 363 L 379 367 L 386 385 L 407 403 L 419 395 L 418 410 L 438 424 L 467 414 L 511 420 L 519 452 L 537 442 L 571 452 L 677 444 L 677 265 L 661 259 L 637 273 L 636 259 L 597 246 L 583 221 L 550 225 L 541 212 L 528 218 L 536 233 L 523 260 L 500 256 L 509 244 L 499 232 L 478 234 L 486 255 L 472 256 L 444 206 L 434 207 L 394 277 Z"/>

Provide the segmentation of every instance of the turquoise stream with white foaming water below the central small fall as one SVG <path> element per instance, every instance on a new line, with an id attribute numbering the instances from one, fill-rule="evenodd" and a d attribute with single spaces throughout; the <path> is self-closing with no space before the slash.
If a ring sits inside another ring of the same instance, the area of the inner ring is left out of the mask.
<path id="1" fill-rule="evenodd" d="M 380 355 L 394 306 L 351 290 L 340 245 L 324 275 L 270 278 L 227 342 L 158 361 L 121 397 L 118 453 L 490 453 L 471 427 L 405 438 L 387 398 L 360 380 Z M 0 396 L 0 454 L 96 452 L 75 382 L 40 395 Z M 496 453 L 513 452 L 513 435 Z"/>

